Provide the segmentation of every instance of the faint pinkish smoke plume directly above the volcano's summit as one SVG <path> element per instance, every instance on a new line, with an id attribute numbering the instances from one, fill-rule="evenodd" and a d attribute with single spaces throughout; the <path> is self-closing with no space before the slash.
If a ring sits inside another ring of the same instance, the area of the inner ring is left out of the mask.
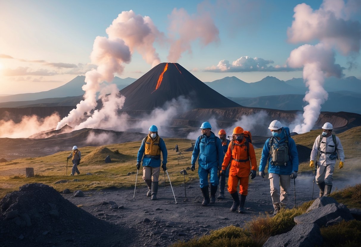
<path id="1" fill-rule="evenodd" d="M 168 62 L 175 63 L 182 53 L 192 53 L 191 42 L 199 39 L 201 45 L 219 41 L 219 31 L 209 12 L 199 11 L 189 15 L 183 8 L 173 9 L 169 15 L 171 45 Z"/>

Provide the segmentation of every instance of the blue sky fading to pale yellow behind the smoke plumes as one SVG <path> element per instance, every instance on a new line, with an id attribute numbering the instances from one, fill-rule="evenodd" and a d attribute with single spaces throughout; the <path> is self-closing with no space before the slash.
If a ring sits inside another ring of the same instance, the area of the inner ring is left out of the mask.
<path id="1" fill-rule="evenodd" d="M 304 44 L 317 44 L 317 39 L 296 43 L 288 41 L 287 28 L 294 20 L 293 8 L 301 3 L 317 10 L 322 1 L 0 0 L 0 94 L 46 91 L 95 68 L 90 59 L 95 38 L 108 37 L 106 28 L 118 14 L 129 10 L 133 10 L 135 15 L 151 18 L 166 39 L 180 36 L 177 30 L 169 27 L 174 11 L 185 13 L 190 19 L 210 18 L 218 33 L 207 44 L 202 44 L 201 37 L 193 37 L 189 42 L 190 49 L 182 52 L 176 61 L 201 81 L 226 76 L 236 76 L 246 82 L 259 81 L 266 76 L 275 76 L 280 80 L 302 77 L 302 68 L 290 69 L 291 72 L 221 72 L 210 69 L 212 66 L 216 68 L 221 60 L 232 63 L 245 56 L 251 60 L 273 61 L 267 66 L 283 67 L 292 50 Z M 360 23 L 361 12 L 360 9 L 357 11 L 350 19 Z M 165 40 L 153 45 L 160 62 L 174 62 L 168 61 L 170 42 Z M 335 50 L 335 63 L 345 68 L 345 76 L 361 79 L 360 68 L 357 67 L 361 64 L 358 52 L 343 55 Z M 353 62 L 352 69 L 346 69 L 350 61 Z M 152 65 L 134 51 L 130 62 L 124 64 L 123 72 L 117 76 L 139 78 L 151 68 Z"/>

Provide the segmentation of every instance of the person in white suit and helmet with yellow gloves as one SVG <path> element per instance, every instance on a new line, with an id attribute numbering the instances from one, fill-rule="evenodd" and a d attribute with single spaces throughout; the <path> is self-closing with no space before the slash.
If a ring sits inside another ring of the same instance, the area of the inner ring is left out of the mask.
<path id="1" fill-rule="evenodd" d="M 343 167 L 343 162 L 345 161 L 340 139 L 332 134 L 332 129 L 333 126 L 329 122 L 322 126 L 322 135 L 316 137 L 311 151 L 310 167 L 312 168 L 319 152 L 316 183 L 319 187 L 320 197 L 330 196 L 336 158 L 340 157 L 339 169 Z"/>

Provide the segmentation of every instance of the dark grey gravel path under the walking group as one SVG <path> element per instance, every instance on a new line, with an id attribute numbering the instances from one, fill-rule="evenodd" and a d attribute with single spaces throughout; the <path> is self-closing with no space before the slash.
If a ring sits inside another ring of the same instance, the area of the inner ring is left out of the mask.
<path id="1" fill-rule="evenodd" d="M 311 173 L 299 175 L 296 179 L 296 205 L 309 201 L 312 197 Z M 356 184 L 356 177 L 349 185 Z M 187 241 L 193 237 L 209 234 L 211 230 L 229 225 L 243 227 L 254 216 L 271 214 L 273 206 L 269 192 L 269 180 L 257 176 L 250 180 L 248 196 L 245 203 L 245 214 L 231 212 L 232 198 L 226 191 L 226 199 L 216 200 L 214 205 L 201 206 L 203 197 L 198 183 L 186 184 L 187 200 L 184 196 L 184 185 L 173 187 L 177 204 L 169 184 L 160 184 L 158 200 L 151 201 L 146 197 L 147 188 L 101 190 L 84 192 L 85 197 L 63 196 L 90 214 L 104 219 L 109 223 L 131 230 L 129 240 L 124 246 L 169 246 L 178 240 Z M 342 189 L 348 184 L 343 179 L 335 178 L 334 188 Z M 288 196 L 288 207 L 295 205 L 295 189 L 291 180 L 291 190 Z M 314 197 L 318 197 L 318 187 L 315 184 Z M 218 193 L 217 193 L 218 194 Z M 111 209 L 103 202 L 113 201 L 123 209 Z M 116 236 L 114 236 L 116 237 Z"/>

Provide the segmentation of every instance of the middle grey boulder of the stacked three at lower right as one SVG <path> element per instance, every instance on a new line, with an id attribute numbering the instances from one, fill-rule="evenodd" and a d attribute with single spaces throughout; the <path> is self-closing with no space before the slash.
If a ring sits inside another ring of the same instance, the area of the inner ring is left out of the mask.
<path id="1" fill-rule="evenodd" d="M 337 220 L 336 220 L 337 219 Z M 296 216 L 293 220 L 296 224 L 317 224 L 318 226 L 332 225 L 340 220 L 353 220 L 353 217 L 343 204 L 327 204 L 326 206 L 315 208 L 303 215 Z"/>

